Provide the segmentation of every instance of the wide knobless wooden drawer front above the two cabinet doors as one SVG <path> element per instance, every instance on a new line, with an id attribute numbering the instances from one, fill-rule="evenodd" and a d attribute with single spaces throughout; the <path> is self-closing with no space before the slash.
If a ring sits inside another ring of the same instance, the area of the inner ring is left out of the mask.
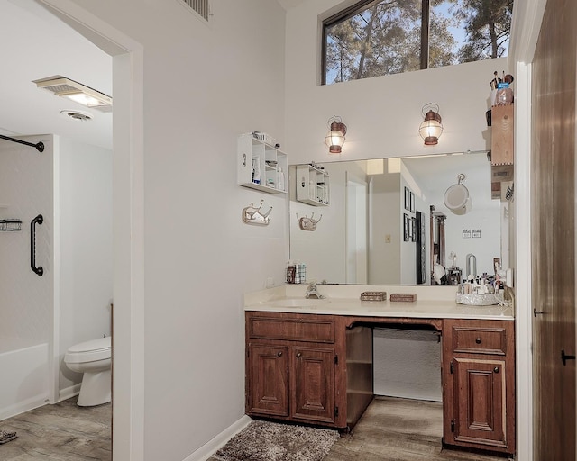
<path id="1" fill-rule="evenodd" d="M 253 339 L 334 342 L 334 320 L 330 316 L 249 315 L 247 333 Z"/>

